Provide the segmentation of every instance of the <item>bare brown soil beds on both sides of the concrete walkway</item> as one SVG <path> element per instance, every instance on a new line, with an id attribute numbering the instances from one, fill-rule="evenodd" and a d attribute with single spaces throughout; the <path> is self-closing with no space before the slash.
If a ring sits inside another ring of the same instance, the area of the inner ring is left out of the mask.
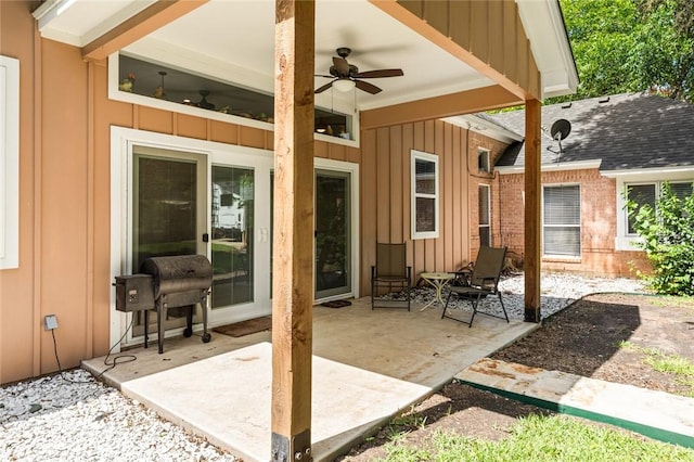
<path id="1" fill-rule="evenodd" d="M 694 362 L 694 299 L 591 295 L 492 358 L 672 394 L 693 393 L 694 384 L 648 365 L 646 360 L 656 351 Z M 438 428 L 497 440 L 509 435 L 517 419 L 530 413 L 551 412 L 451 383 L 337 460 L 382 458 L 384 445 L 400 432 L 408 432 L 407 444 L 413 446 L 425 445 Z"/>

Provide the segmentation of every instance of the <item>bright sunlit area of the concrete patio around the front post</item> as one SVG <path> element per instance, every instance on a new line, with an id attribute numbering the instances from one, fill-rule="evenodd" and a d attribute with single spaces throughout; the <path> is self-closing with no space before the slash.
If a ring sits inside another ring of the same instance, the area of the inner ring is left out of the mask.
<path id="1" fill-rule="evenodd" d="M 123 393 L 244 460 L 270 460 L 272 345 L 262 343 L 123 384 Z M 197 380 L 192 380 L 197 377 Z M 243 380 L 240 380 L 243 378 Z M 313 357 L 317 460 L 406 409 L 428 387 Z"/>

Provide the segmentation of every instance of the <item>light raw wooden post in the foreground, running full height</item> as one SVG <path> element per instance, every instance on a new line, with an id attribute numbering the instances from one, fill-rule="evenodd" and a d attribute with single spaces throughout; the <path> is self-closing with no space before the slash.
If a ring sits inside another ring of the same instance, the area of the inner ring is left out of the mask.
<path id="1" fill-rule="evenodd" d="M 275 1 L 271 461 L 312 460 L 312 0 Z"/>

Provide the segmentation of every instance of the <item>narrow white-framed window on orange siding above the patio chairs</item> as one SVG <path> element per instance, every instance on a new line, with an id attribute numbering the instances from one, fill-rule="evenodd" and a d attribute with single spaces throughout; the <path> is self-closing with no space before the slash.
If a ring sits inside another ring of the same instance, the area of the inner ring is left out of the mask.
<path id="1" fill-rule="evenodd" d="M 438 157 L 412 151 L 412 239 L 438 238 Z"/>

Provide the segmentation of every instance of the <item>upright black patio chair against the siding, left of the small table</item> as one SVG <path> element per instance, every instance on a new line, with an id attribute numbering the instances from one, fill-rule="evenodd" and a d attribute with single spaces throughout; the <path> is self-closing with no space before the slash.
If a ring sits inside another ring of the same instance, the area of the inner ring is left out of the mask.
<path id="1" fill-rule="evenodd" d="M 407 300 L 376 296 L 380 287 L 404 291 Z M 406 244 L 376 243 L 376 265 L 371 267 L 371 309 L 407 308 L 410 311 L 410 290 L 412 288 L 412 267 L 407 265 Z M 380 303 L 380 305 L 376 305 Z"/>

